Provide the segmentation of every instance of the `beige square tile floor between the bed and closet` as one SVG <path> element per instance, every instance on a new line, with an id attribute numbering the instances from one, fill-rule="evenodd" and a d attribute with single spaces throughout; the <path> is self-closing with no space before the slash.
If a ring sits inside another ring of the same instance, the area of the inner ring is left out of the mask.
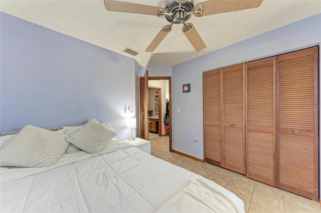
<path id="1" fill-rule="evenodd" d="M 255 181 L 237 172 L 199 162 L 169 151 L 169 137 L 151 137 L 151 154 L 198 173 L 235 193 L 244 202 L 245 212 L 318 212 L 319 203 L 297 194 Z"/>

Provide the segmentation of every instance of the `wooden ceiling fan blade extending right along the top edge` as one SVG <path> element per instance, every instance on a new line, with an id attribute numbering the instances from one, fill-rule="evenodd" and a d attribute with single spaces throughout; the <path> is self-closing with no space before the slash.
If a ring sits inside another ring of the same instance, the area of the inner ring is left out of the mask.
<path id="1" fill-rule="evenodd" d="M 195 11 L 200 5 L 203 7 L 202 14 L 196 12 L 195 16 L 213 15 L 223 12 L 230 12 L 242 9 L 256 8 L 263 0 L 208 0 L 195 5 Z"/>

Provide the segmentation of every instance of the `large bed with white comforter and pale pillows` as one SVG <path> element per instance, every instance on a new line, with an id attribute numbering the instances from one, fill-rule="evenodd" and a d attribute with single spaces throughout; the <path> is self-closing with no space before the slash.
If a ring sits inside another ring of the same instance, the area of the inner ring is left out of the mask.
<path id="1" fill-rule="evenodd" d="M 1 212 L 244 212 L 242 200 L 224 187 L 118 140 L 109 123 L 99 123 L 111 130 L 101 136 L 98 122 L 88 128 L 89 122 L 57 131 L 28 125 L 0 137 Z M 49 154 L 33 153 L 35 147 L 19 152 L 44 143 L 42 134 L 54 147 L 64 144 L 60 157 L 49 143 Z"/>

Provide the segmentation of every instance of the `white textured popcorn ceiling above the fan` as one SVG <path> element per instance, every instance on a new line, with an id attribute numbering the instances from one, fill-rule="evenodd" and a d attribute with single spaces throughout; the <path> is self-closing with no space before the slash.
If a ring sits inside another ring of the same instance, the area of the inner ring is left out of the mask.
<path id="1" fill-rule="evenodd" d="M 165 7 L 166 0 L 122 0 Z M 197 4 L 204 0 L 194 0 Z M 132 57 L 139 66 L 173 66 L 266 31 L 321 13 L 321 0 L 263 0 L 258 8 L 204 17 L 192 22 L 207 47 L 196 52 L 174 24 L 154 52 L 146 47 L 163 26 L 165 17 L 107 11 L 103 0 L 1 0 L 1 11 Z M 320 26 L 315 26 L 320 27 Z M 129 47 L 136 56 L 123 52 Z"/>

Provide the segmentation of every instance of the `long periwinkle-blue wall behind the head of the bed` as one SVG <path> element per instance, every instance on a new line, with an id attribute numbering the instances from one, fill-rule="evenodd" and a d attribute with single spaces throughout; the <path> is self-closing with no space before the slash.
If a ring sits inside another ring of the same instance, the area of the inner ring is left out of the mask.
<path id="1" fill-rule="evenodd" d="M 0 19 L 0 131 L 96 118 L 119 139 L 130 136 L 124 106 L 135 106 L 134 59 L 3 12 Z"/>

